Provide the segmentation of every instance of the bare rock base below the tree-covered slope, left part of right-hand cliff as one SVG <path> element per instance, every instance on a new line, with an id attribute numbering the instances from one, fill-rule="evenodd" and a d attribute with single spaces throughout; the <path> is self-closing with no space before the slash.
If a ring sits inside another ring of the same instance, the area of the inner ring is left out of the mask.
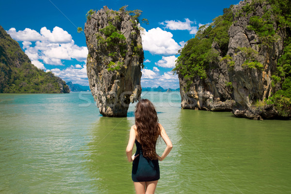
<path id="1" fill-rule="evenodd" d="M 217 48 L 214 41 L 212 49 Z M 188 84 L 183 76 L 178 74 L 181 94 L 181 107 L 183 109 L 197 109 L 206 111 L 231 111 L 235 105 L 232 99 L 232 87 L 226 84 L 230 82 L 227 65 L 223 62 L 213 64 L 216 68 L 211 68 L 207 78 L 202 80 L 195 77 L 192 84 Z"/>

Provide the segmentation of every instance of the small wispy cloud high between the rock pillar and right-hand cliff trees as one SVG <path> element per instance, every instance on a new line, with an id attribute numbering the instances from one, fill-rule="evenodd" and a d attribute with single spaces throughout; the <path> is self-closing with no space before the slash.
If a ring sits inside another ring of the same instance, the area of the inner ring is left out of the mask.
<path id="1" fill-rule="evenodd" d="M 192 24 L 196 24 L 196 21 L 191 21 L 188 18 L 185 18 L 184 22 L 179 20 L 166 20 L 160 24 L 164 25 L 164 28 L 170 30 L 188 30 L 190 34 L 196 34 L 198 32 L 197 26 L 192 26 Z"/>

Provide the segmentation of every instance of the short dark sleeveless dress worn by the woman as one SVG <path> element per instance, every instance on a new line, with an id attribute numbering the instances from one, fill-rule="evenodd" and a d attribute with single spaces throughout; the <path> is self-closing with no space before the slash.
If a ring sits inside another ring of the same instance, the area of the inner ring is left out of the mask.
<path id="1" fill-rule="evenodd" d="M 160 166 L 158 160 L 149 160 L 143 155 L 141 144 L 135 139 L 136 152 L 138 157 L 132 162 L 131 178 L 133 182 L 154 181 L 160 179 Z"/>

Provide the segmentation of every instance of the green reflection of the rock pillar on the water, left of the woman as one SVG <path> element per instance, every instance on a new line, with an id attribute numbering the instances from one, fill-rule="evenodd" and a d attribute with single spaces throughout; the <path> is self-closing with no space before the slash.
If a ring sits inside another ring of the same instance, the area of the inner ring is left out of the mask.
<path id="1" fill-rule="evenodd" d="M 125 154 L 130 126 L 127 118 L 107 117 L 100 117 L 92 126 L 85 168 L 94 179 L 98 194 L 134 192 L 131 163 Z"/>

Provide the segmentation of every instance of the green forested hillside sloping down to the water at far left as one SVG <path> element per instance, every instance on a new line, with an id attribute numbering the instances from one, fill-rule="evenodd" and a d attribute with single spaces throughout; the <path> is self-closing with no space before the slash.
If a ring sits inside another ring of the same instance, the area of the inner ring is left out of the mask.
<path id="1" fill-rule="evenodd" d="M 0 26 L 0 93 L 69 93 L 61 78 L 32 65 L 28 56 Z"/>

